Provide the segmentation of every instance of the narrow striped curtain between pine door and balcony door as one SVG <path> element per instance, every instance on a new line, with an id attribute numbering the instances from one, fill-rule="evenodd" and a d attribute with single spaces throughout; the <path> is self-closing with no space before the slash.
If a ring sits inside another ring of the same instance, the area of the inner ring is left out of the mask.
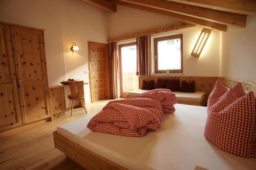
<path id="1" fill-rule="evenodd" d="M 118 98 L 117 42 L 109 43 L 110 98 Z"/>

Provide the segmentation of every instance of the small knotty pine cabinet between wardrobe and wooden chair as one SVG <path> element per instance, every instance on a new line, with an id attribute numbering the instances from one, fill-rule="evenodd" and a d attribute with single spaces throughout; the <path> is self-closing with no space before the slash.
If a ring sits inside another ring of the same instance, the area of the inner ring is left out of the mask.
<path id="1" fill-rule="evenodd" d="M 66 111 L 64 86 L 53 86 L 49 88 L 51 96 L 51 113 L 53 115 Z"/>

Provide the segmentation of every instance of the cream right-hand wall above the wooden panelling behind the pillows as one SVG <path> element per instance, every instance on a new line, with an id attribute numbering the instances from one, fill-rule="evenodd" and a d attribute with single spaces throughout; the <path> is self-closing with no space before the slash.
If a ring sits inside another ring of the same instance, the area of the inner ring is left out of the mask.
<path id="1" fill-rule="evenodd" d="M 220 76 L 256 82 L 256 16 L 247 16 L 246 28 L 228 27 L 221 37 Z"/>

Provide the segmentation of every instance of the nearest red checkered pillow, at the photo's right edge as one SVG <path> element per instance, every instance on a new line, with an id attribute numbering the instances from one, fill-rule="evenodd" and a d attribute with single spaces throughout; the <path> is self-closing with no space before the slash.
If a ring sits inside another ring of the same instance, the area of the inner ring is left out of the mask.
<path id="1" fill-rule="evenodd" d="M 218 148 L 246 158 L 256 157 L 256 99 L 242 96 L 218 114 L 209 112 L 204 135 Z"/>

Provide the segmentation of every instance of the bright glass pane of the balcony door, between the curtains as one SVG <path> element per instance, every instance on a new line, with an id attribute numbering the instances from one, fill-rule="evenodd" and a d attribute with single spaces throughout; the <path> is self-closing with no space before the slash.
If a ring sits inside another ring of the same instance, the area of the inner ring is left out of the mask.
<path id="1" fill-rule="evenodd" d="M 137 45 L 122 47 L 121 60 L 123 92 L 137 90 L 139 88 L 139 79 L 138 76 L 136 76 Z"/>

